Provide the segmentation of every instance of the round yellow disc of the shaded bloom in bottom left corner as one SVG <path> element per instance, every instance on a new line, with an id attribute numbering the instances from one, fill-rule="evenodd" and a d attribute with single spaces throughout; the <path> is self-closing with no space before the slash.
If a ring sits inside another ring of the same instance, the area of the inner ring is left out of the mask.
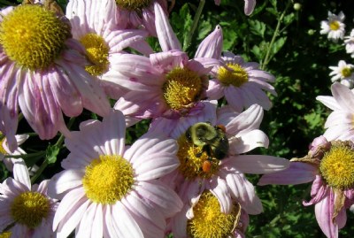
<path id="1" fill-rule="evenodd" d="M 12 218 L 19 224 L 29 228 L 41 225 L 50 212 L 50 200 L 38 192 L 25 192 L 13 199 L 11 204 Z"/>

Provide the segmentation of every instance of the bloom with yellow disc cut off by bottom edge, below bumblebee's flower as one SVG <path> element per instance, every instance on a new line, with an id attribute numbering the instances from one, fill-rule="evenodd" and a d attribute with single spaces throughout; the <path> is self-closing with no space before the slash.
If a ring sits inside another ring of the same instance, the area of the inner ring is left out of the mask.
<path id="1" fill-rule="evenodd" d="M 239 203 L 223 213 L 217 197 L 204 191 L 171 220 L 171 232 L 175 238 L 243 238 L 248 225 L 249 216 Z"/>

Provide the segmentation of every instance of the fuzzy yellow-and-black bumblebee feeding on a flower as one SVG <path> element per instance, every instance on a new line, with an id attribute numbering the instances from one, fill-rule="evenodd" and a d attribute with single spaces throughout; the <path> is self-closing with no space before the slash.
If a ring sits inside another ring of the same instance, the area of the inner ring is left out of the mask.
<path id="1" fill-rule="evenodd" d="M 209 160 L 212 157 L 221 160 L 227 156 L 229 145 L 223 126 L 213 127 L 209 122 L 198 122 L 187 129 L 186 138 L 195 146 L 201 147 L 201 153 L 205 152 Z M 201 154 L 196 155 L 200 156 Z"/>

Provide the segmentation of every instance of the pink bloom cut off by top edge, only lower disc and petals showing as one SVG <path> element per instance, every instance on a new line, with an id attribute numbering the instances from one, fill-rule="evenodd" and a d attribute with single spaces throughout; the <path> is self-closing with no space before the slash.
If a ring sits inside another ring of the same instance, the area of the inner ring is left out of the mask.
<path id="1" fill-rule="evenodd" d="M 144 27 L 150 35 L 157 35 L 154 4 L 160 4 L 167 14 L 166 0 L 115 0 L 117 4 L 117 24 L 121 28 Z"/>

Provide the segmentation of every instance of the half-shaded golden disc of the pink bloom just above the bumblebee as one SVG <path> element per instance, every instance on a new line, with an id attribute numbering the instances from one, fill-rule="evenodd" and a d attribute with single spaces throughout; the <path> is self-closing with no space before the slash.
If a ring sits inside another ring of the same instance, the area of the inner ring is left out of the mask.
<path id="1" fill-rule="evenodd" d="M 188 107 L 202 94 L 202 79 L 187 68 L 174 68 L 166 80 L 162 90 L 166 104 L 173 110 Z"/>

